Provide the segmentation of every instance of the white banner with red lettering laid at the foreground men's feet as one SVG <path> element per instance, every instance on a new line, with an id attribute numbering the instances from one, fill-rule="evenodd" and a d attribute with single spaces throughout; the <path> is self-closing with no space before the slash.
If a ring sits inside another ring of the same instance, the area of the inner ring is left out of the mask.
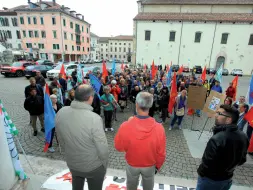
<path id="1" fill-rule="evenodd" d="M 64 170 L 58 174 L 53 175 L 42 185 L 41 188 L 54 190 L 72 190 L 72 176 L 69 170 Z M 126 178 L 118 176 L 105 176 L 103 190 L 126 190 Z M 154 190 L 195 190 L 195 188 L 184 187 L 173 184 L 158 184 L 155 183 Z M 87 181 L 84 185 L 84 190 L 88 190 Z M 143 190 L 142 181 L 139 181 L 137 190 Z"/>

